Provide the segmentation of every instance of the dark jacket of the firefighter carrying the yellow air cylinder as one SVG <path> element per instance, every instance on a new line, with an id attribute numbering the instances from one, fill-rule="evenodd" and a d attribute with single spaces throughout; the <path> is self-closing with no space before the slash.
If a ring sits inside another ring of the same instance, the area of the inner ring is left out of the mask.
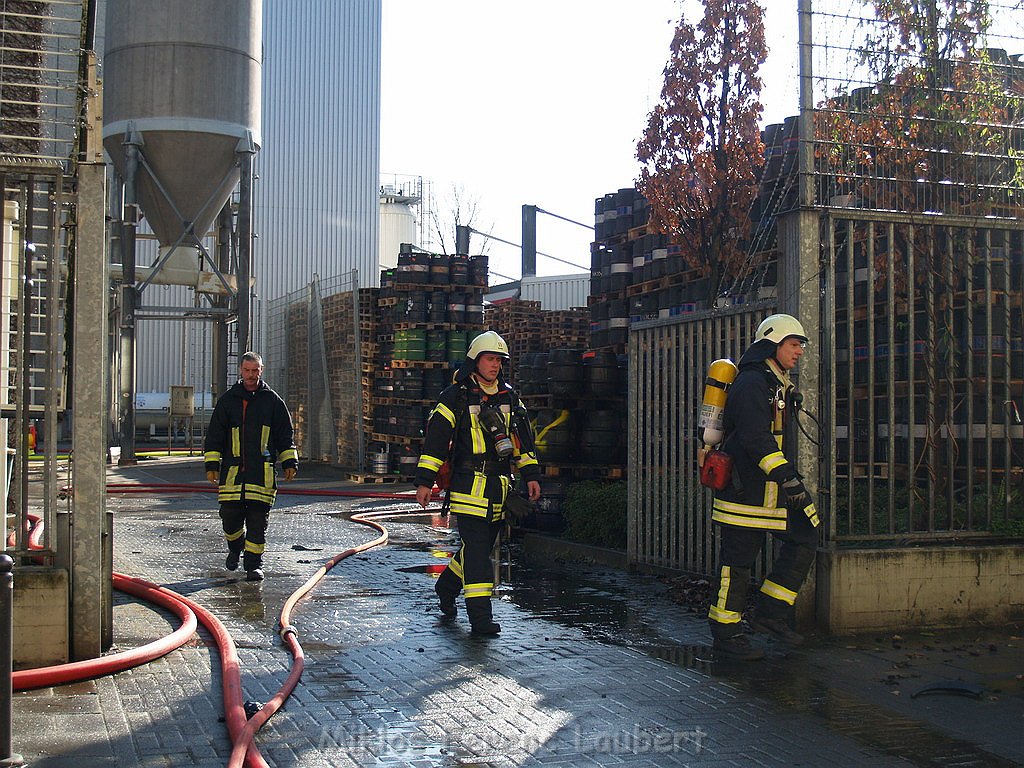
<path id="1" fill-rule="evenodd" d="M 717 522 L 785 530 L 780 484 L 799 474 L 785 456 L 792 443 L 786 432 L 794 386 L 788 372 L 775 361 L 775 348 L 767 340 L 752 344 L 729 387 L 722 451 L 732 457 L 733 481 L 715 494 L 712 519 Z M 815 514 L 813 505 L 807 514 Z"/>

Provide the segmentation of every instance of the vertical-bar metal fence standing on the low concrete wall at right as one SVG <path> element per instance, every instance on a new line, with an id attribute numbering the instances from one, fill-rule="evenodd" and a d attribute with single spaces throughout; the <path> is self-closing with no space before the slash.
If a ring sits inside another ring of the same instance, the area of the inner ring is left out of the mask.
<path id="1" fill-rule="evenodd" d="M 942 218 L 825 219 L 821 484 L 840 544 L 1022 518 L 1024 226 Z"/>

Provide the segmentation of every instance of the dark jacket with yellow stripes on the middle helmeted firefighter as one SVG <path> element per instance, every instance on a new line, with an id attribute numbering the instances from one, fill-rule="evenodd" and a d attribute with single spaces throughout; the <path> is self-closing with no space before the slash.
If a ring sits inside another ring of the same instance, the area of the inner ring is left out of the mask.
<path id="1" fill-rule="evenodd" d="M 490 436 L 480 426 L 478 415 L 481 406 L 498 406 L 506 426 L 511 430 L 508 434 L 515 450 L 509 469 L 526 480 L 534 480 L 540 477 L 541 467 L 537 462 L 534 432 L 519 396 L 502 379 L 498 382 L 498 392 L 487 395 L 477 386 L 471 373 L 471 369 L 457 373 L 456 381 L 440 393 L 437 404 L 430 412 L 414 483 L 432 486 L 441 465 L 450 461 L 449 501 L 452 511 L 485 517 L 488 502 L 484 497 L 486 476 L 507 475 L 509 472 L 483 466 L 483 462 L 488 465 L 498 462 L 498 455 Z M 499 466 L 504 466 L 504 462 Z M 507 483 L 503 488 L 503 493 L 507 493 Z M 500 502 L 504 504 L 504 496 Z M 496 504 L 495 508 L 499 509 L 500 504 Z"/>

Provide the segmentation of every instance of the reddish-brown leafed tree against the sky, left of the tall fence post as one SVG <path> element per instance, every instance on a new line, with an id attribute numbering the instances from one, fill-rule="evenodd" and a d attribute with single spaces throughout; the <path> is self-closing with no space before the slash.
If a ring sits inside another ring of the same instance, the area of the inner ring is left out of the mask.
<path id="1" fill-rule="evenodd" d="M 637 188 L 650 225 L 679 244 L 687 265 L 710 280 L 714 306 L 723 279 L 748 259 L 751 204 L 764 145 L 761 78 L 768 55 L 764 10 L 754 0 L 706 0 L 673 36 L 659 103 L 637 144 Z"/>

